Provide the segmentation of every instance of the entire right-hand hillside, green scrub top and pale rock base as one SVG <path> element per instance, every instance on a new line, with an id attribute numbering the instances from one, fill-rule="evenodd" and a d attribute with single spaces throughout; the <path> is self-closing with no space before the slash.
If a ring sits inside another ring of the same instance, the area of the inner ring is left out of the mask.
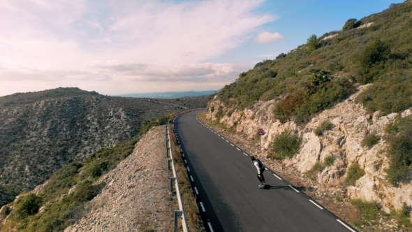
<path id="1" fill-rule="evenodd" d="M 241 73 L 201 117 L 361 231 L 411 231 L 411 10 L 310 36 Z"/>

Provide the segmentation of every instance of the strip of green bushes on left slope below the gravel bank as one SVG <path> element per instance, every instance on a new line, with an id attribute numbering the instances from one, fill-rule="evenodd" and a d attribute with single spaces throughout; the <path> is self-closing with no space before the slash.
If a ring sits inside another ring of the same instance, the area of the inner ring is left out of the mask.
<path id="1" fill-rule="evenodd" d="M 91 154 L 83 163 L 66 164 L 50 177 L 44 191 L 36 196 L 27 194 L 15 203 L 10 219 L 0 231 L 64 231 L 87 211 L 85 203 L 91 201 L 103 189 L 104 184 L 94 184 L 99 177 L 116 168 L 120 161 L 133 152 L 140 137 L 168 122 L 169 115 L 148 122 L 136 136 L 112 148 L 102 148 Z M 69 189 L 75 186 L 73 193 Z M 39 212 L 41 207 L 43 212 Z"/>

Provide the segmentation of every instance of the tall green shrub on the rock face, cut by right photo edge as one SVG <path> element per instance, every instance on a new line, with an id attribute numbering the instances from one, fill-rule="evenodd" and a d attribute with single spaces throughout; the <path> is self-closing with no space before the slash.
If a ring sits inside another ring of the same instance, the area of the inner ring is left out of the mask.
<path id="1" fill-rule="evenodd" d="M 386 177 L 397 185 L 412 169 L 412 117 L 398 118 L 386 128 L 390 166 Z"/>

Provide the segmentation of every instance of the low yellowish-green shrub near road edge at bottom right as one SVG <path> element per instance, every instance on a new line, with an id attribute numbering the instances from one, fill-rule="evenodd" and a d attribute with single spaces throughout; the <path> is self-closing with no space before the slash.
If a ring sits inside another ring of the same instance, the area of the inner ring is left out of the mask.
<path id="1" fill-rule="evenodd" d="M 378 218 L 379 208 L 376 203 L 362 201 L 360 199 L 353 199 L 351 204 L 358 210 L 358 217 L 353 220 L 353 224 L 362 227 L 369 224 L 376 224 Z"/>

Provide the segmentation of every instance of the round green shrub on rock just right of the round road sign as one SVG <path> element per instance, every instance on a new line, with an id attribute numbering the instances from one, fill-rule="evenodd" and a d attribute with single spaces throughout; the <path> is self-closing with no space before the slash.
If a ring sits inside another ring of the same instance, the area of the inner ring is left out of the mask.
<path id="1" fill-rule="evenodd" d="M 291 158 L 300 150 L 302 139 L 293 134 L 292 131 L 283 131 L 279 136 L 274 138 L 271 150 L 275 153 L 276 159 Z"/>

